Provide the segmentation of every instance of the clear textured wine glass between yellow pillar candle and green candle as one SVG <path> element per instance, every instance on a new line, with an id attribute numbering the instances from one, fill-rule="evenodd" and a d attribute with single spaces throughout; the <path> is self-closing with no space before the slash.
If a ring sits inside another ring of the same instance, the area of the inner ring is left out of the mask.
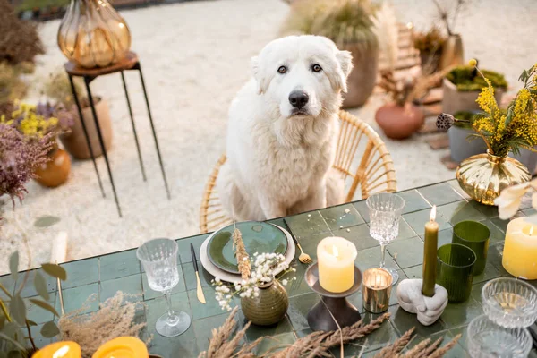
<path id="1" fill-rule="evenodd" d="M 380 268 L 385 268 L 393 277 L 392 285 L 395 285 L 399 279 L 396 269 L 386 268 L 385 254 L 386 245 L 396 240 L 399 234 L 399 219 L 401 212 L 405 207 L 405 200 L 399 195 L 379 192 L 371 195 L 365 200 L 370 213 L 370 234 L 371 237 L 380 243 L 382 259 L 380 260 Z"/>

